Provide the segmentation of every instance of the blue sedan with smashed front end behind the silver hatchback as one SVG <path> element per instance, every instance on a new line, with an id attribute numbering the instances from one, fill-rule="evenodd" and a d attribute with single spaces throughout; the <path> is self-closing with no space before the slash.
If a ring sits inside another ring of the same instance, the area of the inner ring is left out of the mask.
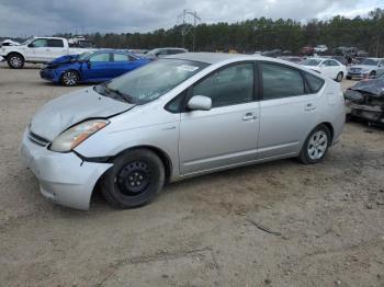
<path id="1" fill-rule="evenodd" d="M 125 50 L 86 51 L 63 56 L 45 64 L 39 76 L 63 85 L 105 82 L 150 62 Z"/>

